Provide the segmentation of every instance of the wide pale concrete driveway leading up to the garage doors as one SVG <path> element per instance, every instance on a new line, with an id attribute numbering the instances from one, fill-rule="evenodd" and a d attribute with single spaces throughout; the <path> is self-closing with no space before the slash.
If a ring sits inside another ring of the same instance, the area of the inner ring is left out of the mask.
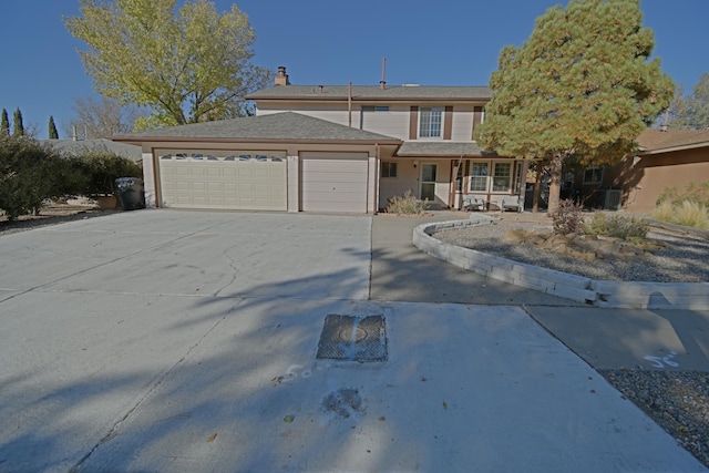
<path id="1" fill-rule="evenodd" d="M 0 471 L 705 471 L 522 308 L 372 300 L 371 233 L 142 210 L 0 238 Z M 329 315 L 383 320 L 387 361 L 316 358 Z"/>

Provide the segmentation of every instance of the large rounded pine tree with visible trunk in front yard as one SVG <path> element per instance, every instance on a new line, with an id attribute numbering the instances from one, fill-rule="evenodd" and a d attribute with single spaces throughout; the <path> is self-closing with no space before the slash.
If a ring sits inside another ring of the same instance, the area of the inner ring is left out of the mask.
<path id="1" fill-rule="evenodd" d="M 501 155 L 549 160 L 553 213 L 565 160 L 617 162 L 669 105 L 675 84 L 659 59 L 649 61 L 654 47 L 639 0 L 548 9 L 521 48 L 501 51 L 477 141 Z"/>

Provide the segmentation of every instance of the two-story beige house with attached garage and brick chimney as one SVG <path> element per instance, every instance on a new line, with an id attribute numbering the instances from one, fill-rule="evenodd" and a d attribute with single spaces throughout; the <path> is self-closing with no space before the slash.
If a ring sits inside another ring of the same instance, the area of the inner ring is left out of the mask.
<path id="1" fill-rule="evenodd" d="M 113 137 L 143 147 L 148 205 L 376 213 L 407 191 L 435 208 L 522 194 L 524 162 L 473 141 L 486 86 L 291 85 L 279 68 L 247 99 L 256 116 Z"/>

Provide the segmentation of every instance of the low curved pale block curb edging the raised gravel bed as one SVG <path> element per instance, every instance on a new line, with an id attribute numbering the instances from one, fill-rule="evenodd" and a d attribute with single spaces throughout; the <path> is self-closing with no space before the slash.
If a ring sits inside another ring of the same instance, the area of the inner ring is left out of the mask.
<path id="1" fill-rule="evenodd" d="M 486 225 L 492 220 L 493 218 L 486 215 L 472 214 L 470 220 L 419 225 L 413 230 L 413 245 L 434 258 L 479 275 L 589 306 L 709 310 L 709 282 L 595 280 L 448 245 L 432 236 L 443 229 Z"/>

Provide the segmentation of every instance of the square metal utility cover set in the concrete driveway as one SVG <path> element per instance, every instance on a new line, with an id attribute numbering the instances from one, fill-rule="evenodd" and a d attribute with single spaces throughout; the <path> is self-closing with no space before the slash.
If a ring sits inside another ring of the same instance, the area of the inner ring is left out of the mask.
<path id="1" fill-rule="evenodd" d="M 387 327 L 383 316 L 341 316 L 325 318 L 316 358 L 387 361 Z"/>

